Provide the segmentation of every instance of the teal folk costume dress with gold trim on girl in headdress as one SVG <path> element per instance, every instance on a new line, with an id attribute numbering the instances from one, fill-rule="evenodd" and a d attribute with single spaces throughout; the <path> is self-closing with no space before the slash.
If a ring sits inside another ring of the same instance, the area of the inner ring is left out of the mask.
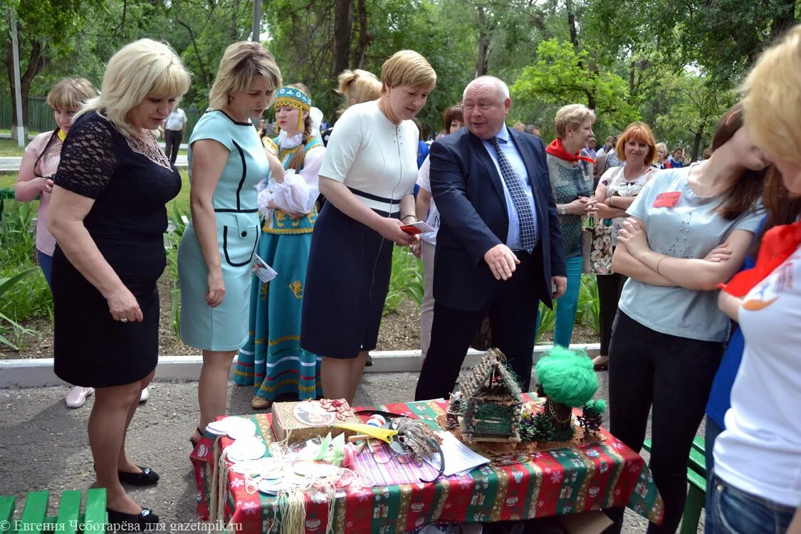
<path id="1" fill-rule="evenodd" d="M 284 169 L 296 151 L 304 150 L 308 157 L 312 148 L 322 146 L 314 138 L 291 148 L 282 147 L 280 138 L 274 143 Z M 316 190 L 313 196 L 316 198 Z M 257 254 L 278 274 L 269 283 L 253 276 L 250 336 L 239 350 L 234 371 L 235 383 L 252 386 L 254 395 L 263 399 L 275 400 L 281 394 L 298 395 L 299 399 L 323 395 L 322 358 L 300 348 L 300 314 L 316 219 L 313 207 L 300 219 L 292 219 L 277 208 L 268 211 L 264 219 Z"/>

